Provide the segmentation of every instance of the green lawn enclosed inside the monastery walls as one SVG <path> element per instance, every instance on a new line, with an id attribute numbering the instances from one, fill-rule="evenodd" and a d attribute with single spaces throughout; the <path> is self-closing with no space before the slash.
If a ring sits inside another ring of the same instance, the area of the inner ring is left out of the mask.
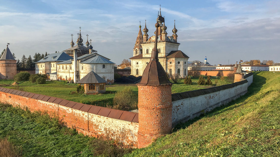
<path id="1" fill-rule="evenodd" d="M 205 77 L 206 78 L 206 77 Z M 207 79 L 207 78 L 206 78 Z M 229 80 L 220 80 L 219 77 L 211 77 L 214 84 L 214 79 L 218 80 L 218 84 L 229 84 Z M 172 85 L 172 93 L 191 91 L 195 89 L 209 88 L 211 85 L 198 85 L 198 78 L 192 78 L 192 85 L 183 84 L 184 80 L 179 80 L 178 84 Z M 43 94 L 47 96 L 59 97 L 69 101 L 75 101 L 78 103 L 92 104 L 97 106 L 106 107 L 112 106 L 115 93 L 123 90 L 125 87 L 131 87 L 135 94 L 138 94 L 138 88 L 136 84 L 112 84 L 106 85 L 106 93 L 96 95 L 85 94 L 70 94 L 72 91 L 76 91 L 76 84 L 64 84 L 59 81 L 47 81 L 46 84 L 35 84 L 30 81 L 19 82 L 19 85 L 11 85 L 14 80 L 0 80 L 0 87 L 14 88 L 20 91 L 32 92 L 36 94 Z"/>

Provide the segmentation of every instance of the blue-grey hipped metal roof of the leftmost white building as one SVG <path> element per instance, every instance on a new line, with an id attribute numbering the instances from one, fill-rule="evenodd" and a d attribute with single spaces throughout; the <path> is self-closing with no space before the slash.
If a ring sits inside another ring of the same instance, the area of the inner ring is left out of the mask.
<path id="1" fill-rule="evenodd" d="M 70 59 L 73 59 L 73 57 L 69 56 L 68 54 L 66 54 L 64 52 L 59 52 L 59 53 L 49 54 L 48 56 L 44 57 L 43 59 L 41 59 L 35 63 L 44 63 L 44 62 L 50 62 L 50 61 L 66 61 L 66 60 L 70 60 Z"/>

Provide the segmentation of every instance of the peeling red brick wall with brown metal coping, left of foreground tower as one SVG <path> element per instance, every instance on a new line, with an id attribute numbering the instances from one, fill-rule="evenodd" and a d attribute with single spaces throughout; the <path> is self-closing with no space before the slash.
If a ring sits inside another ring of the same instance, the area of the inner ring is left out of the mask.
<path id="1" fill-rule="evenodd" d="M 67 127 L 73 127 L 85 135 L 106 136 L 137 147 L 138 113 L 3 87 L 0 87 L 0 101 L 14 107 L 27 107 L 30 111 L 47 111 L 51 116 L 58 116 Z"/>

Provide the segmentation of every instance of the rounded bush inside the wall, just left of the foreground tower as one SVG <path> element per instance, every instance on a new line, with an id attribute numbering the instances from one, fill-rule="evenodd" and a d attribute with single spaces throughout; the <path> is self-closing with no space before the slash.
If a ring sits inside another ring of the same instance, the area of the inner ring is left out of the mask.
<path id="1" fill-rule="evenodd" d="M 134 110 L 137 108 L 138 96 L 130 87 L 125 87 L 118 91 L 113 99 L 113 109 L 117 110 Z"/>

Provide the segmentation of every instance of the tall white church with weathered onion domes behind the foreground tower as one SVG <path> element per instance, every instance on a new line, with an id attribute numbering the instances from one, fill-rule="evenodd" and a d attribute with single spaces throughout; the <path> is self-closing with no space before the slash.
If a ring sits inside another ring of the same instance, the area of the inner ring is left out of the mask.
<path id="1" fill-rule="evenodd" d="M 160 13 L 161 16 L 161 13 Z M 178 74 L 179 77 L 185 77 L 188 75 L 188 59 L 189 57 L 179 50 L 179 45 L 177 38 L 178 31 L 175 28 L 172 30 L 172 36 L 167 36 L 167 27 L 164 22 L 158 20 L 160 27 L 158 27 L 158 60 L 165 72 L 169 75 Z M 148 65 L 151 52 L 155 44 L 155 35 L 148 37 L 148 29 L 146 27 L 143 29 L 144 35 L 141 31 L 141 25 L 139 26 L 139 32 L 137 35 L 136 43 L 133 48 L 133 57 L 129 58 L 131 60 L 131 75 L 142 76 L 144 69 Z M 155 32 L 154 32 L 155 34 Z"/>

